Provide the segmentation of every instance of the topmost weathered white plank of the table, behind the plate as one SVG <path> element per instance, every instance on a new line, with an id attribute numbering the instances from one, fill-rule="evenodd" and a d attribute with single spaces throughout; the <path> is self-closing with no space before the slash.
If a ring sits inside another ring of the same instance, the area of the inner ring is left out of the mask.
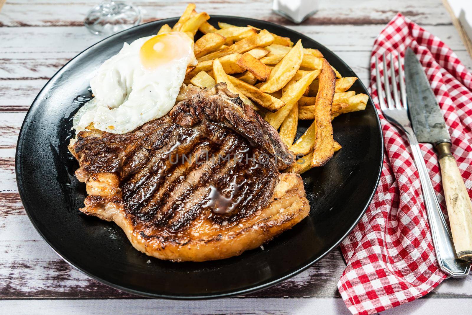
<path id="1" fill-rule="evenodd" d="M 254 17 L 282 25 L 293 25 L 272 13 L 271 0 L 194 1 L 197 10 L 208 14 Z M 85 14 L 97 0 L 8 0 L 0 13 L 0 26 L 83 26 Z M 188 1 L 133 1 L 143 11 L 143 22 L 182 14 Z M 27 9 L 26 9 L 27 8 Z M 320 1 L 318 13 L 303 25 L 386 24 L 401 10 L 421 25 L 452 24 L 449 14 L 438 0 L 337 0 Z M 8 14 L 7 14 L 8 13 Z"/>

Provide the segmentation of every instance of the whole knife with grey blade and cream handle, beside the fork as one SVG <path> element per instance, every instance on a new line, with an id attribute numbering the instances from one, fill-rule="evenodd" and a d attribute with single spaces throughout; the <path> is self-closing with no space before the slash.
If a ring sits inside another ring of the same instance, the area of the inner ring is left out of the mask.
<path id="1" fill-rule="evenodd" d="M 436 96 L 416 58 L 408 48 L 405 53 L 405 82 L 408 111 L 418 142 L 431 143 L 439 155 L 439 165 L 446 197 L 455 253 L 459 259 L 472 262 L 472 203 L 451 153 L 451 137 Z M 436 246 L 436 244 L 435 244 Z"/>

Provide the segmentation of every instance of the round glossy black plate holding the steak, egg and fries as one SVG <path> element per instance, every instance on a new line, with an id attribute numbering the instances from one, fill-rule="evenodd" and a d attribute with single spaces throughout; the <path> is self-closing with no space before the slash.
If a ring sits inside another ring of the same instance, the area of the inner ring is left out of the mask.
<path id="1" fill-rule="evenodd" d="M 114 223 L 86 216 L 85 185 L 73 176 L 78 164 L 67 152 L 71 117 L 90 96 L 90 74 L 123 42 L 156 34 L 177 18 L 146 23 L 115 34 L 81 52 L 44 86 L 18 138 L 16 174 L 21 200 L 42 238 L 88 276 L 131 293 L 158 298 L 216 298 L 267 288 L 303 271 L 347 236 L 371 202 L 382 166 L 382 134 L 372 101 L 367 109 L 334 120 L 343 146 L 324 167 L 303 174 L 310 216 L 292 230 L 238 257 L 204 263 L 171 263 L 135 250 Z M 286 27 L 255 19 L 213 16 L 210 22 L 266 28 L 317 48 L 343 77 L 357 77 L 326 47 Z M 368 94 L 357 80 L 357 93 Z M 299 134 L 308 122 L 299 127 Z M 18 231 L 19 232 L 19 231 Z M 149 260 L 150 263 L 147 263 Z"/>

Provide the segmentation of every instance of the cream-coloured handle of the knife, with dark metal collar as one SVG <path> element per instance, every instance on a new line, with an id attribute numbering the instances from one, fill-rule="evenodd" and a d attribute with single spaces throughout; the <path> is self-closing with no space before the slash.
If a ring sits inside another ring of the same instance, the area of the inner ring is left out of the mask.
<path id="1" fill-rule="evenodd" d="M 472 262 L 472 203 L 461 172 L 451 154 L 451 144 L 436 145 L 446 197 L 447 214 L 451 225 L 455 252 L 459 259 Z"/>

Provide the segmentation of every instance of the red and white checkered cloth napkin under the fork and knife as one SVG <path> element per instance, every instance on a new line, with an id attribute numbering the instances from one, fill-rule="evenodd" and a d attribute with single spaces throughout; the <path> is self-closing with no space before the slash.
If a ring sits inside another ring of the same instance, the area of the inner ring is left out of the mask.
<path id="1" fill-rule="evenodd" d="M 441 40 L 397 14 L 374 42 L 371 96 L 379 108 L 374 63 L 382 53 L 421 60 L 452 138 L 452 151 L 472 196 L 472 75 Z M 353 314 L 373 314 L 420 298 L 446 278 L 438 269 L 418 172 L 405 135 L 379 111 L 385 139 L 380 184 L 362 220 L 341 244 L 347 262 L 337 286 Z M 445 210 L 438 158 L 421 144 L 439 203 Z"/>

